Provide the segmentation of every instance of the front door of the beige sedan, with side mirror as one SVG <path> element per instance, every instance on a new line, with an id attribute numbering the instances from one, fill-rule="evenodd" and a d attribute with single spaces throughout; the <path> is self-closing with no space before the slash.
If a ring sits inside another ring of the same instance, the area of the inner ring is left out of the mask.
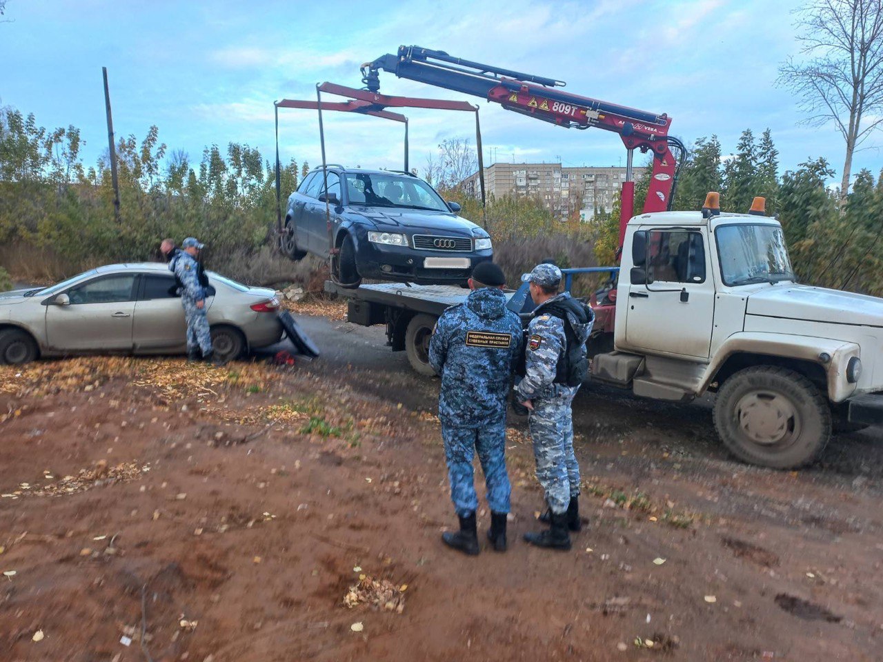
<path id="1" fill-rule="evenodd" d="M 110 274 L 64 290 L 68 304 L 46 306 L 49 347 L 73 352 L 132 351 L 136 282 L 135 274 Z"/>

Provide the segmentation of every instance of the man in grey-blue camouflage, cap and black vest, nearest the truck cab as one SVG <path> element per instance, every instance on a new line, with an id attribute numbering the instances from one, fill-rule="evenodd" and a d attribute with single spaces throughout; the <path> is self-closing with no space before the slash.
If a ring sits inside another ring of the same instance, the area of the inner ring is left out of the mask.
<path id="1" fill-rule="evenodd" d="M 546 493 L 548 530 L 525 533 L 532 545 L 570 549 L 569 530 L 579 530 L 579 464 L 573 452 L 573 419 L 570 404 L 578 386 L 562 383 L 561 366 L 567 351 L 564 321 L 549 314 L 555 309 L 567 316 L 585 359 L 585 340 L 592 332 L 590 309 L 558 294 L 561 269 L 540 264 L 530 274 L 530 292 L 537 305 L 528 326 L 525 377 L 515 387 L 517 399 L 530 410 L 529 425 L 537 479 Z M 543 518 L 540 518 L 543 519 Z"/>

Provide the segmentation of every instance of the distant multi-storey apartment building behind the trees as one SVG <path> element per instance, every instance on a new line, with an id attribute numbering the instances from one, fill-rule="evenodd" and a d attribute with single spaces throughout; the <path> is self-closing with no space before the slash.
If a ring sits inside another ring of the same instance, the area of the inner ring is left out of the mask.
<path id="1" fill-rule="evenodd" d="M 633 178 L 644 174 L 633 170 Z M 595 209 L 611 211 L 615 192 L 625 181 L 625 168 L 570 168 L 561 163 L 494 163 L 485 168 L 488 198 L 525 196 L 539 199 L 557 218 L 579 214 L 590 221 Z M 464 189 L 479 195 L 479 174 L 467 177 Z"/>

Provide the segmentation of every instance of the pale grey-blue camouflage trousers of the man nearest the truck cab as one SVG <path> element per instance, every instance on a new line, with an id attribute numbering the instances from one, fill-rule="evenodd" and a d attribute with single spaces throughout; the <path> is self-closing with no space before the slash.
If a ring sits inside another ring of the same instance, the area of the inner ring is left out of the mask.
<path id="1" fill-rule="evenodd" d="M 528 419 L 537 461 L 537 480 L 553 513 L 567 510 L 570 497 L 579 495 L 579 464 L 573 453 L 573 417 L 570 403 L 579 387 L 555 385 L 555 395 L 533 401 Z"/>

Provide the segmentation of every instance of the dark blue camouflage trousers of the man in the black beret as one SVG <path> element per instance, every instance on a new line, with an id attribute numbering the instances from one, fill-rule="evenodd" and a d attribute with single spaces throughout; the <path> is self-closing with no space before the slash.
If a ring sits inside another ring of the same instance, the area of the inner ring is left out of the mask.
<path id="1" fill-rule="evenodd" d="M 476 450 L 485 474 L 487 505 L 494 513 L 508 513 L 512 488 L 506 471 L 505 420 L 478 428 L 442 424 L 442 440 L 448 461 L 450 499 L 457 515 L 464 517 L 479 508 L 472 470 Z"/>

